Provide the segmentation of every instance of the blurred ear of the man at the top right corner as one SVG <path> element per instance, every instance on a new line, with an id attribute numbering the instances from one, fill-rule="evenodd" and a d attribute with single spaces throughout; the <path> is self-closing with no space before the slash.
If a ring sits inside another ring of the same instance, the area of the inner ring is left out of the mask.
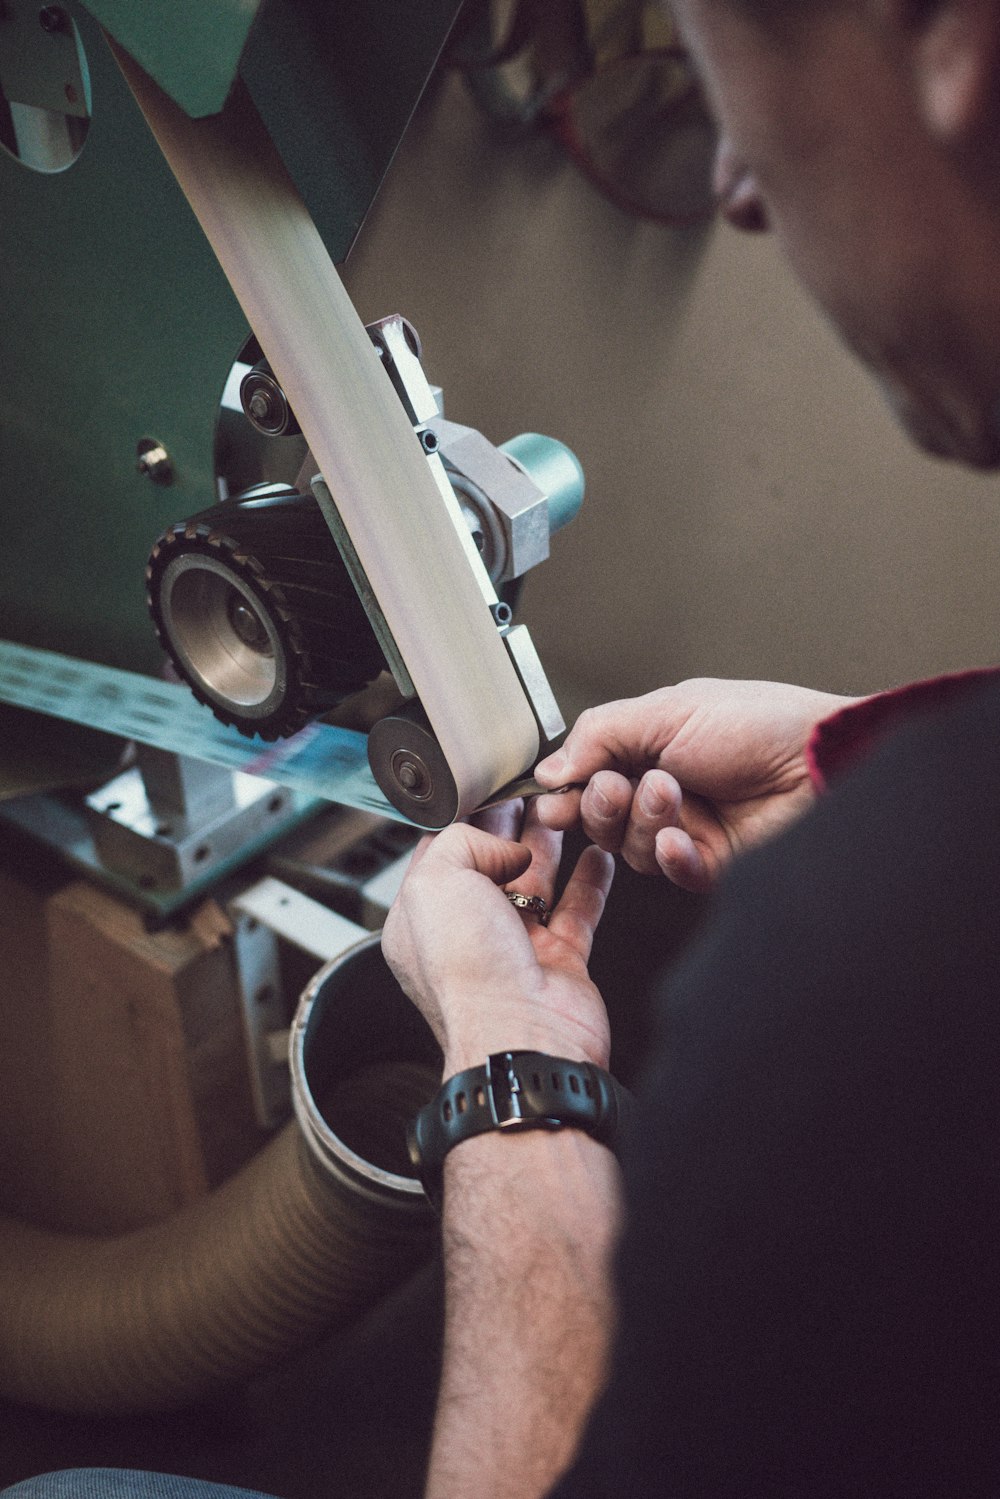
<path id="1" fill-rule="evenodd" d="M 924 121 L 954 150 L 1000 147 L 1000 0 L 883 0 Z"/>

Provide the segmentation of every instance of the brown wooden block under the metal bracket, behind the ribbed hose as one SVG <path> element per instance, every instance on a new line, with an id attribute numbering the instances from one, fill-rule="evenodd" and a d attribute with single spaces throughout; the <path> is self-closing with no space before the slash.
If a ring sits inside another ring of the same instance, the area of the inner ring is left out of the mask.
<path id="1" fill-rule="evenodd" d="M 40 907 L 15 890 L 4 881 L 0 898 L 24 923 L 21 958 L 10 925 L 0 965 L 24 970 L 12 985 L 22 1031 L 9 1012 L 7 1027 L 22 1033 L 27 1066 L 0 1103 L 16 1160 L 3 1207 L 99 1234 L 156 1222 L 261 1144 L 229 922 L 205 901 L 183 925 L 150 932 L 82 881 Z M 24 1109 L 13 1123 L 12 1103 Z"/>

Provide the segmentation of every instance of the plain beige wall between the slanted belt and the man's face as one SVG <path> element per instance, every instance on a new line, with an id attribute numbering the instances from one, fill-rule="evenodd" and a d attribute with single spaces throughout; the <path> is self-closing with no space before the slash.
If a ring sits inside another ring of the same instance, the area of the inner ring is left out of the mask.
<path id="1" fill-rule="evenodd" d="M 448 415 L 550 432 L 588 498 L 523 618 L 564 697 L 691 675 L 870 691 L 1000 660 L 1000 489 L 912 453 L 768 240 L 637 223 L 435 85 L 348 264 Z"/>

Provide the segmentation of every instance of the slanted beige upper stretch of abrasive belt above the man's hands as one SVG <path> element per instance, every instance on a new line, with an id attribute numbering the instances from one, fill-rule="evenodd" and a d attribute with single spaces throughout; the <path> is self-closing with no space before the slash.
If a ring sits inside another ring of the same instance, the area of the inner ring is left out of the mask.
<path id="1" fill-rule="evenodd" d="M 243 84 L 222 114 L 190 120 L 112 49 L 288 396 L 469 812 L 534 764 L 538 729 L 420 441 Z"/>

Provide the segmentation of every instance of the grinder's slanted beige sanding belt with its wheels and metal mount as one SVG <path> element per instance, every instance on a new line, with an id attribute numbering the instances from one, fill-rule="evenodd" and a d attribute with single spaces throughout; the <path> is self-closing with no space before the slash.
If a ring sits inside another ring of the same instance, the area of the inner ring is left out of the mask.
<path id="1" fill-rule="evenodd" d="M 133 60 L 150 46 L 136 12 L 87 9 L 121 39 L 115 60 L 253 330 L 246 417 L 264 433 L 298 427 L 307 450 L 292 483 L 162 528 L 147 567 L 160 642 L 217 717 L 262 738 L 294 733 L 387 664 L 405 706 L 372 729 L 372 770 L 399 811 L 441 827 L 562 732 L 504 595 L 579 507 L 579 465 L 546 439 L 495 448 L 447 421 L 405 319 L 363 328 L 259 88 L 237 75 L 222 108 L 187 112 Z M 178 24 L 174 7 L 139 9 Z M 147 441 L 139 468 L 168 478 L 168 451 Z"/>

